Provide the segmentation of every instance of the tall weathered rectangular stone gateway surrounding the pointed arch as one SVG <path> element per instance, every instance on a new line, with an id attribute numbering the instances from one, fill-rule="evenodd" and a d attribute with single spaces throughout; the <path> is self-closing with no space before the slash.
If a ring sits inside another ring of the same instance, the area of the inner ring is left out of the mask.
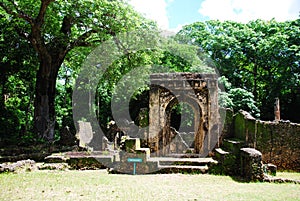
<path id="1" fill-rule="evenodd" d="M 215 74 L 158 73 L 150 76 L 148 146 L 153 156 L 194 153 L 206 157 L 219 138 L 218 82 Z M 188 104 L 194 113 L 193 145 L 171 127 L 171 110 Z"/>

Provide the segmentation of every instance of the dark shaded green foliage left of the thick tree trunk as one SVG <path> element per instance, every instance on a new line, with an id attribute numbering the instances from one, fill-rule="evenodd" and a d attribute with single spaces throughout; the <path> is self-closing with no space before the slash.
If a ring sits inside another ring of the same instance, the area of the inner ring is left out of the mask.
<path id="1" fill-rule="evenodd" d="M 18 37 L 3 15 L 0 27 L 0 141 L 10 144 L 31 137 L 38 61 L 28 41 Z"/>

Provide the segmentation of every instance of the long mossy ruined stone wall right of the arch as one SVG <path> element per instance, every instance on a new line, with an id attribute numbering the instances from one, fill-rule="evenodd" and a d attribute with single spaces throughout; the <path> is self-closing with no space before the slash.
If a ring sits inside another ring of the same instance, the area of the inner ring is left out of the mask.
<path id="1" fill-rule="evenodd" d="M 300 171 L 300 124 L 260 121 L 240 111 L 233 125 L 234 137 L 261 151 L 264 163 L 273 163 L 281 170 Z"/>

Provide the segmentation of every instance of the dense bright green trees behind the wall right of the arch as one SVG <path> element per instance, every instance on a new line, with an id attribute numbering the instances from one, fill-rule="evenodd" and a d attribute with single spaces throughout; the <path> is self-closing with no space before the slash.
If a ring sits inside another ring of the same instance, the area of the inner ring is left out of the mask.
<path id="1" fill-rule="evenodd" d="M 251 92 L 262 119 L 273 119 L 274 99 L 279 97 L 283 118 L 300 121 L 289 109 L 300 108 L 299 21 L 196 22 L 177 37 L 189 38 L 184 42 L 208 53 L 233 87 Z"/>

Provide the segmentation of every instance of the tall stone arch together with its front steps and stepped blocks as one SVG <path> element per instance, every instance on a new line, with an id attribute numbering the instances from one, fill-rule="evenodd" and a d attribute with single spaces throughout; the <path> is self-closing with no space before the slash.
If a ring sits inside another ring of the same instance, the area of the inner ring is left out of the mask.
<path id="1" fill-rule="evenodd" d="M 187 104 L 192 110 L 193 122 L 188 130 L 182 130 L 181 126 L 177 129 L 172 126 L 172 109 L 181 103 Z M 205 159 L 217 145 L 220 133 L 216 74 L 150 75 L 148 115 L 148 129 L 135 131 L 135 135 L 130 135 L 133 133 L 130 122 L 118 125 L 118 129 L 115 128 L 115 122 L 110 122 L 112 130 L 117 131 L 115 139 L 111 141 L 114 141 L 114 147 L 120 150 L 112 169 L 131 172 L 132 164 L 127 161 L 133 158 L 143 161 L 136 164 L 139 173 L 162 169 L 174 172 L 181 168 L 184 171 L 206 172 L 207 166 L 216 162 L 213 159 Z M 109 136 L 112 138 L 112 133 L 109 132 Z M 123 136 L 124 140 L 118 145 L 117 141 L 120 139 L 117 138 L 120 136 Z M 177 163 L 181 165 L 174 165 Z M 185 163 L 188 165 L 183 165 Z M 190 165 L 193 163 L 194 165 Z"/>

